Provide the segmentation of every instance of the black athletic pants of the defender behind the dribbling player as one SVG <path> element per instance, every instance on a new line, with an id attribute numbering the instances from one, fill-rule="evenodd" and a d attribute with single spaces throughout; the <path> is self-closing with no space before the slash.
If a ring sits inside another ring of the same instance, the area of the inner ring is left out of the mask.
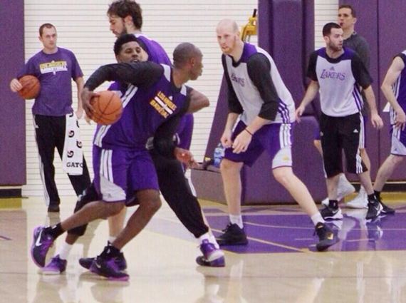
<path id="1" fill-rule="evenodd" d="M 175 212 L 184 227 L 192 232 L 194 237 L 200 237 L 209 232 L 209 227 L 204 224 L 202 209 L 200 208 L 197 197 L 194 197 L 189 188 L 182 164 L 177 160 L 170 160 L 151 151 L 152 160 L 157 170 L 158 183 L 160 190 L 168 205 Z M 75 212 L 80 210 L 89 202 L 97 200 L 97 193 L 94 185 L 86 189 L 85 195 L 76 203 Z M 69 230 L 73 235 L 84 235 L 86 225 Z"/>

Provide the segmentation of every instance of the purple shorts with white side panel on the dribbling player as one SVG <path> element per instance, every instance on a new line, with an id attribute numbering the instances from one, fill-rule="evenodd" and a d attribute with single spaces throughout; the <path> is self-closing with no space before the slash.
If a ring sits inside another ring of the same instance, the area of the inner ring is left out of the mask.
<path id="1" fill-rule="evenodd" d="M 127 192 L 159 190 L 148 150 L 107 150 L 93 145 L 94 183 L 105 202 L 127 200 Z"/>

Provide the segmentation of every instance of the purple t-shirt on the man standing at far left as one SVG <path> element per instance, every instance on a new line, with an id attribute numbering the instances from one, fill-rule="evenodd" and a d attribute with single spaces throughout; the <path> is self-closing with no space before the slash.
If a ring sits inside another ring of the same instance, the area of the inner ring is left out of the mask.
<path id="1" fill-rule="evenodd" d="M 34 115 L 61 116 L 73 112 L 71 79 L 76 80 L 83 73 L 71 51 L 58 47 L 56 53 L 36 53 L 17 78 L 25 75 L 36 76 L 41 82 L 41 91 L 32 108 Z"/>

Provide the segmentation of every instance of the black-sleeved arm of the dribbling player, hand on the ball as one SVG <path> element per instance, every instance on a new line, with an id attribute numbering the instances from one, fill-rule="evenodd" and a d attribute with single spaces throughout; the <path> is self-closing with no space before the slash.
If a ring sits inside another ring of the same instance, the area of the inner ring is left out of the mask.
<path id="1" fill-rule="evenodd" d="M 85 83 L 82 93 L 83 109 L 92 118 L 93 107 L 90 99 L 95 96 L 93 91 L 105 81 L 120 81 L 135 86 L 150 86 L 164 73 L 164 67 L 154 62 L 115 63 L 101 66 Z"/>

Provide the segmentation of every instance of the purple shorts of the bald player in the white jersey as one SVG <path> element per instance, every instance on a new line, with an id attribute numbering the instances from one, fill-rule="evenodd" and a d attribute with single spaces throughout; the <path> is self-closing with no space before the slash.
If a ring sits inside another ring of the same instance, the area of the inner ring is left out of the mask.
<path id="1" fill-rule="evenodd" d="M 272 160 L 272 168 L 292 166 L 291 145 L 293 124 L 271 123 L 262 126 L 252 136 L 248 149 L 243 153 L 233 153 L 232 148 L 226 148 L 224 158 L 233 162 L 243 162 L 251 167 L 264 150 L 268 152 Z M 246 128 L 244 122 L 239 121 L 234 128 L 231 140 Z"/>

